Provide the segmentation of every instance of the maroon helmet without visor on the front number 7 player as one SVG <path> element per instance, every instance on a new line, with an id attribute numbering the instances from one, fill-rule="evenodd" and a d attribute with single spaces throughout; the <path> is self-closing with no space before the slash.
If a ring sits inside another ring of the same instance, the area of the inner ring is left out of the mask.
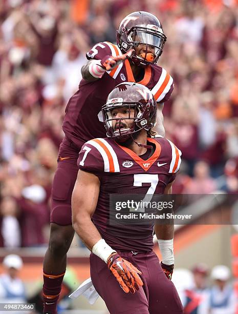
<path id="1" fill-rule="evenodd" d="M 128 108 L 128 117 L 114 118 L 113 110 Z M 134 112 L 132 113 L 131 109 Z M 144 85 L 125 82 L 117 85 L 108 95 L 106 104 L 102 106 L 104 126 L 107 136 L 118 142 L 126 141 L 131 134 L 142 129 L 148 131 L 156 124 L 157 103 L 152 92 Z M 118 129 L 113 129 L 113 120 L 118 122 Z M 123 120 L 133 120 L 130 128 L 121 126 Z"/>

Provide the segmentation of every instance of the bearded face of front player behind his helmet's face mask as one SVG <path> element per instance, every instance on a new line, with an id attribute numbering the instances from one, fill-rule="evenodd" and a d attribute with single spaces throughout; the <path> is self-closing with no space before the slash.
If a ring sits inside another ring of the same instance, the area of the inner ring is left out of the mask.
<path id="1" fill-rule="evenodd" d="M 112 110 L 111 114 L 112 119 L 114 119 L 112 120 L 113 131 L 119 130 L 119 128 L 121 130 L 129 129 L 133 126 L 134 121 L 131 120 L 131 118 L 134 118 L 135 116 L 135 108 L 115 108 Z"/>

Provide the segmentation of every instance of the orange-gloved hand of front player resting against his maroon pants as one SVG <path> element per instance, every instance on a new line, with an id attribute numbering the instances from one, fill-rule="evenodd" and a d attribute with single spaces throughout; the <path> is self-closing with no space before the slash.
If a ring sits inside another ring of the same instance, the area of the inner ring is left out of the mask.
<path id="1" fill-rule="evenodd" d="M 114 254 L 107 260 L 107 267 L 112 271 L 121 288 L 126 293 L 135 293 L 143 286 L 143 282 L 139 276 L 141 272 L 128 261 Z"/>

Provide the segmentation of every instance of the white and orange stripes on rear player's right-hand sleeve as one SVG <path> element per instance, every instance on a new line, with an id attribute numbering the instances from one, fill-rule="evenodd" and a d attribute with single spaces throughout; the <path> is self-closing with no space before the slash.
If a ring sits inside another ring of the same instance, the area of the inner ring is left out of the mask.
<path id="1" fill-rule="evenodd" d="M 162 68 L 160 79 L 152 89 L 152 93 L 157 102 L 161 102 L 164 99 L 165 95 L 171 88 L 173 81 L 172 76 L 170 76 L 167 71 Z"/>

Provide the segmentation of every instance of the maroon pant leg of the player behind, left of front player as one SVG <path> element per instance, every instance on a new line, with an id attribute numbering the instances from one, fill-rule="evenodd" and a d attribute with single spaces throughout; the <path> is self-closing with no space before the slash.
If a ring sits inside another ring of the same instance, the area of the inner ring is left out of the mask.
<path id="1" fill-rule="evenodd" d="M 78 174 L 80 149 L 64 138 L 59 147 L 58 165 L 52 186 L 50 222 L 72 225 L 71 197 Z"/>

